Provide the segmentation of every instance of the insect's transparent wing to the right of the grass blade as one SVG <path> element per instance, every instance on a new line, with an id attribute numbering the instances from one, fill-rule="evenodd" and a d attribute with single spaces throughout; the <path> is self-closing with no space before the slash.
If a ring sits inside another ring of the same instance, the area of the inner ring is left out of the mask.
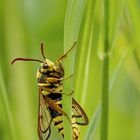
<path id="1" fill-rule="evenodd" d="M 72 117 L 76 118 L 76 123 L 78 125 L 87 125 L 88 117 L 82 107 L 76 102 L 74 98 L 72 98 Z"/>

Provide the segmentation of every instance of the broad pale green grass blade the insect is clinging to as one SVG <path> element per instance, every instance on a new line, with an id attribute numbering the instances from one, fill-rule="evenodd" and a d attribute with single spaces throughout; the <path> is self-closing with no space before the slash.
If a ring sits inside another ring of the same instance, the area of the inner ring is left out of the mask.
<path id="1" fill-rule="evenodd" d="M 78 40 L 78 34 L 82 19 L 82 14 L 85 6 L 85 0 L 68 0 L 65 23 L 64 23 L 64 53 Z M 65 75 L 69 76 L 74 72 L 75 54 L 69 55 L 64 62 Z M 64 82 L 64 92 L 71 92 L 73 90 L 73 80 Z M 71 119 L 72 97 L 63 95 L 63 110 Z M 65 139 L 72 139 L 71 123 L 64 117 L 64 135 Z"/>

